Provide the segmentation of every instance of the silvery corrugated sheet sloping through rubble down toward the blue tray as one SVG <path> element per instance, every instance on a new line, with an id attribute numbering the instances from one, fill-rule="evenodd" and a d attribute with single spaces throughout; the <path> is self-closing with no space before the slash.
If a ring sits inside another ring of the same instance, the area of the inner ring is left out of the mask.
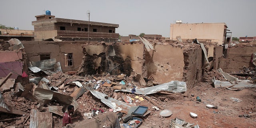
<path id="1" fill-rule="evenodd" d="M 127 114 L 129 112 L 130 108 L 132 106 L 135 106 L 133 104 L 128 104 L 126 102 L 122 102 L 122 101 L 116 100 L 114 98 L 110 98 L 110 97 L 108 97 L 108 95 L 98 92 L 98 91 L 94 90 L 92 87 L 86 86 L 85 88 L 90 90 L 90 92 L 96 98 L 100 99 L 101 102 L 103 102 L 104 104 L 106 104 L 107 106 L 109 106 L 110 108 L 112 108 L 115 111 L 120 111 L 120 112 L 124 112 L 125 114 Z M 108 98 L 106 99 L 105 97 L 108 97 Z M 122 108 L 122 109 L 120 110 L 120 108 Z"/>

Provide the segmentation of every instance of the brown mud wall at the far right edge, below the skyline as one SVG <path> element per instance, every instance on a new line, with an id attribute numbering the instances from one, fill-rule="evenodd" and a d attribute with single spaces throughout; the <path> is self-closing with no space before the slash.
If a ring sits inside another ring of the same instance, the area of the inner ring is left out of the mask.
<path id="1" fill-rule="evenodd" d="M 256 45 L 237 45 L 228 48 L 227 58 L 222 58 L 221 68 L 224 72 L 240 72 L 243 66 L 254 67 L 250 63 L 252 53 L 256 52 Z"/>

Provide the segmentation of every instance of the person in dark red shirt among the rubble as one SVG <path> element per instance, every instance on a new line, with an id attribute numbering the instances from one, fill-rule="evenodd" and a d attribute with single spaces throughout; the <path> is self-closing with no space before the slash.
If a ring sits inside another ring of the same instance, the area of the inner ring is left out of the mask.
<path id="1" fill-rule="evenodd" d="M 73 119 L 80 118 L 80 116 L 76 116 L 74 118 L 71 118 L 70 114 L 74 113 L 74 106 L 69 105 L 68 106 L 68 112 L 65 112 L 63 115 L 63 120 L 62 120 L 62 126 L 66 126 L 67 124 L 72 124 Z"/>

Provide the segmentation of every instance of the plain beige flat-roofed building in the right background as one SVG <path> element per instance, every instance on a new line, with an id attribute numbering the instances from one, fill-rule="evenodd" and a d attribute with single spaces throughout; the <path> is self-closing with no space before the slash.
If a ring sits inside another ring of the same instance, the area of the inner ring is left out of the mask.
<path id="1" fill-rule="evenodd" d="M 180 36 L 183 39 L 197 38 L 202 42 L 217 42 L 218 45 L 230 42 L 231 32 L 225 23 L 193 23 L 176 22 L 170 25 L 170 40 Z"/>

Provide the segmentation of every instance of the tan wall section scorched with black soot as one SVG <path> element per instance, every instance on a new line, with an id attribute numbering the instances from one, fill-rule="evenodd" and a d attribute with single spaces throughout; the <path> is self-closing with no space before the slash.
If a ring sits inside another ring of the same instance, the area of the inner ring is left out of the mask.
<path id="1" fill-rule="evenodd" d="M 83 74 L 124 73 L 130 75 L 133 71 L 142 74 L 143 44 L 119 45 L 84 45 L 82 67 L 78 72 Z"/>

